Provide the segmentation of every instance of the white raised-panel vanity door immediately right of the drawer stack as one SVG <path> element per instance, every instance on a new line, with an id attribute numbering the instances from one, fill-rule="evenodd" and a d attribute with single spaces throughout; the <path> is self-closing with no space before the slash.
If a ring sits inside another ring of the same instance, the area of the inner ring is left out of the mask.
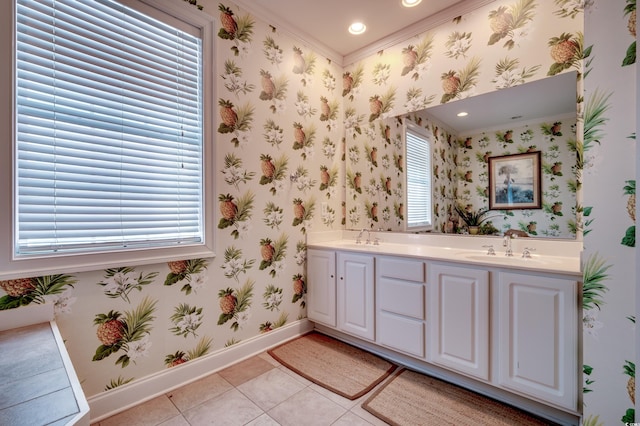
<path id="1" fill-rule="evenodd" d="M 435 263 L 427 287 L 429 360 L 489 380 L 489 272 Z"/>

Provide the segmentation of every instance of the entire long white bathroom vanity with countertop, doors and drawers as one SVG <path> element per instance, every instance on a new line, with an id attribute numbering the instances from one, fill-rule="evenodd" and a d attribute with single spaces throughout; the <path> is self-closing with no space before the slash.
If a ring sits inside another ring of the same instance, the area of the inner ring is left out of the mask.
<path id="1" fill-rule="evenodd" d="M 578 423 L 580 243 L 511 240 L 507 256 L 497 237 L 374 234 L 309 235 L 307 315 L 317 329 Z"/>

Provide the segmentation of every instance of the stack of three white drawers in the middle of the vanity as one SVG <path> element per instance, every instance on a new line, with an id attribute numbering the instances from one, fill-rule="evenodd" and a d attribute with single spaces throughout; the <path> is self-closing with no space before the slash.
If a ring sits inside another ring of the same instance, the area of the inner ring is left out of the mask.
<path id="1" fill-rule="evenodd" d="M 376 342 L 409 355 L 425 356 L 425 263 L 376 258 Z"/>

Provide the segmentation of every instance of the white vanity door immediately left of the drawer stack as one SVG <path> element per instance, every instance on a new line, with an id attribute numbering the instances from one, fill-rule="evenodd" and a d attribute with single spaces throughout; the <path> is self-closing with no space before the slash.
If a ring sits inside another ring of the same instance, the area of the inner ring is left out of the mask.
<path id="1" fill-rule="evenodd" d="M 338 328 L 374 340 L 373 257 L 338 252 Z"/>

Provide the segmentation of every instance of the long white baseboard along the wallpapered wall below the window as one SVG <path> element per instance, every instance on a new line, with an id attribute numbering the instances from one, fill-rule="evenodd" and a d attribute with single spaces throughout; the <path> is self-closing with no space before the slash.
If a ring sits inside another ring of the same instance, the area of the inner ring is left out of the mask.
<path id="1" fill-rule="evenodd" d="M 210 355 L 189 361 L 179 367 L 135 380 L 99 395 L 87 398 L 91 423 L 98 422 L 173 389 L 201 379 L 231 364 L 250 358 L 313 329 L 313 323 L 302 319 L 259 336 L 252 337 Z"/>

